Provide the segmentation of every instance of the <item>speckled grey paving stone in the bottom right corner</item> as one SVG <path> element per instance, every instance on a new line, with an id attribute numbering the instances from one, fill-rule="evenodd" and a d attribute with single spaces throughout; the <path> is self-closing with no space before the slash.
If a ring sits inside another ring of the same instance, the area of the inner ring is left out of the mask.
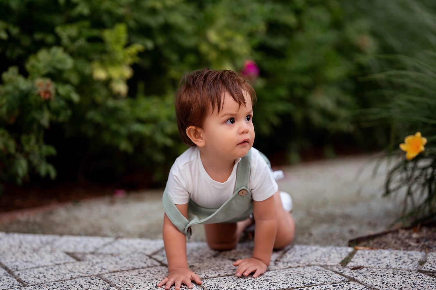
<path id="1" fill-rule="evenodd" d="M 353 278 L 379 290 L 436 290 L 436 278 L 411 270 L 329 267 L 346 277 Z"/>

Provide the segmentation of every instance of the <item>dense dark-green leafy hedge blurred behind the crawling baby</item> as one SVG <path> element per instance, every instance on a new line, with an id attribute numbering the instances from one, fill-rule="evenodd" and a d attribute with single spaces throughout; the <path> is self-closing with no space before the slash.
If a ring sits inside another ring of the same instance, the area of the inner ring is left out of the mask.
<path id="1" fill-rule="evenodd" d="M 371 3 L 0 0 L 0 183 L 57 171 L 112 180 L 140 170 L 163 184 L 186 149 L 173 106 L 181 75 L 240 71 L 247 59 L 260 69 L 255 147 L 286 150 L 295 162 L 311 146 L 331 155 L 344 140 L 384 145 L 355 115 L 376 102 L 361 92 L 380 84 L 358 77 L 395 47 L 380 27 L 395 39 L 421 16 L 388 27 L 392 11 L 383 26 Z"/>

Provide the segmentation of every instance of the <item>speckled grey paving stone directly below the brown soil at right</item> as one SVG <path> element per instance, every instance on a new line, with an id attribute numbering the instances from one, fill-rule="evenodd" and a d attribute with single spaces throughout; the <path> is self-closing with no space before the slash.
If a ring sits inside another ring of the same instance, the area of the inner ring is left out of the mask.
<path id="1" fill-rule="evenodd" d="M 359 250 L 348 266 L 418 270 L 418 262 L 423 260 L 424 256 L 424 252 L 417 251 Z"/>

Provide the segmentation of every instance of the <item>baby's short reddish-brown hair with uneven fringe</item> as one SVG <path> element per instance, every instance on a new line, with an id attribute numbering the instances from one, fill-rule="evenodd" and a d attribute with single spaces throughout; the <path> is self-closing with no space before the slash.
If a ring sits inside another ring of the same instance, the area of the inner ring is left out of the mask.
<path id="1" fill-rule="evenodd" d="M 204 119 L 215 107 L 218 113 L 224 105 L 223 97 L 228 92 L 239 107 L 246 107 L 243 91 L 250 95 L 251 102 L 256 100 L 253 87 L 232 70 L 209 70 L 203 68 L 185 73 L 176 92 L 175 107 L 177 126 L 183 142 L 195 145 L 186 134 L 186 128 L 202 128 Z"/>

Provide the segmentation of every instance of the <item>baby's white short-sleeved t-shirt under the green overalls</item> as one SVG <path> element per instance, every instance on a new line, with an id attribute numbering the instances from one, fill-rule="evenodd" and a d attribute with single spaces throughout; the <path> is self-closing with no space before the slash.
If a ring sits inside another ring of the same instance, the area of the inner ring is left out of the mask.
<path id="1" fill-rule="evenodd" d="M 277 192 L 278 185 L 271 169 L 252 147 L 249 190 L 255 201 L 266 200 Z M 235 190 L 236 169 L 241 158 L 235 160 L 232 174 L 224 182 L 213 180 L 201 163 L 198 147 L 190 147 L 177 157 L 168 176 L 168 194 L 175 204 L 185 204 L 191 198 L 200 207 L 221 207 Z"/>

